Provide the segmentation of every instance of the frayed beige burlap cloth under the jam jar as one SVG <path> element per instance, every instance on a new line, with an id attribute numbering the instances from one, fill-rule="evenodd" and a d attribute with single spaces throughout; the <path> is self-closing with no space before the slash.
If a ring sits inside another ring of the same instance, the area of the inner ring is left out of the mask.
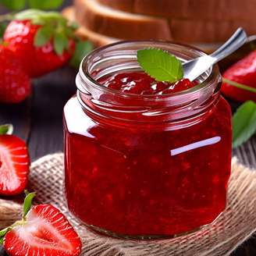
<path id="1" fill-rule="evenodd" d="M 63 155 L 46 155 L 33 162 L 29 190 L 36 203 L 59 208 L 76 229 L 83 243 L 81 255 L 90 256 L 203 256 L 229 255 L 256 231 L 256 172 L 232 160 L 226 210 L 213 226 L 168 240 L 122 240 L 88 229 L 69 213 L 62 194 Z M 0 199 L 0 229 L 20 219 L 22 206 Z"/>

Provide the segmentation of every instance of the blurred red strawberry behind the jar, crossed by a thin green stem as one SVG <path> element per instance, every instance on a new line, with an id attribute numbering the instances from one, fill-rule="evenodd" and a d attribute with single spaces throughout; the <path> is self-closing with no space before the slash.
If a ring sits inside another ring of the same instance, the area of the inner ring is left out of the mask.
<path id="1" fill-rule="evenodd" d="M 222 76 L 233 82 L 256 88 L 256 50 L 226 69 Z M 256 102 L 256 93 L 230 84 L 223 83 L 221 91 L 226 97 L 236 101 Z"/>

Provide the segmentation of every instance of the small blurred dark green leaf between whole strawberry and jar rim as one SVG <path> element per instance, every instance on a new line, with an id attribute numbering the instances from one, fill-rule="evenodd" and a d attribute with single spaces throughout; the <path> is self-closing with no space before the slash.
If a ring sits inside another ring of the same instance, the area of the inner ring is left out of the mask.
<path id="1" fill-rule="evenodd" d="M 76 68 L 79 68 L 80 62 L 84 59 L 84 56 L 93 50 L 93 45 L 90 41 L 79 41 L 76 43 L 76 48 L 73 53 L 73 57 L 70 60 L 70 64 Z"/>

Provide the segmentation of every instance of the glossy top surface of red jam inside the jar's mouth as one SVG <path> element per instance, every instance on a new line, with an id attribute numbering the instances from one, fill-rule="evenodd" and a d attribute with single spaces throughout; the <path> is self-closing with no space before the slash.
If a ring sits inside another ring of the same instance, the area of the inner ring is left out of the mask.
<path id="1" fill-rule="evenodd" d="M 109 87 L 130 94 L 171 94 L 185 91 L 196 84 L 188 79 L 181 79 L 175 83 L 157 82 L 147 73 L 118 73 L 99 80 L 105 87 Z"/>

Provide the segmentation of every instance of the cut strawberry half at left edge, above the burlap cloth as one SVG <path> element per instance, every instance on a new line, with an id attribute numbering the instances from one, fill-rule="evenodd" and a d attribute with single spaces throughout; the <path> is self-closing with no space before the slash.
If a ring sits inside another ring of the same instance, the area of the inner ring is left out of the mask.
<path id="1" fill-rule="evenodd" d="M 27 187 L 30 158 L 20 138 L 0 135 L 0 194 L 20 194 Z"/>

